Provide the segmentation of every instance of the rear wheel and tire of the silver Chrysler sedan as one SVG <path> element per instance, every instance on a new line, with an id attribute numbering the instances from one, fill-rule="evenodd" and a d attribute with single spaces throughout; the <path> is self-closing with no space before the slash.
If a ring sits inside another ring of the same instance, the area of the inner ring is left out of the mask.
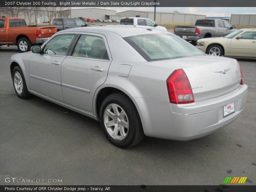
<path id="1" fill-rule="evenodd" d="M 108 140 L 120 148 L 132 147 L 144 137 L 138 111 L 122 93 L 108 95 L 103 100 L 100 124 Z"/>

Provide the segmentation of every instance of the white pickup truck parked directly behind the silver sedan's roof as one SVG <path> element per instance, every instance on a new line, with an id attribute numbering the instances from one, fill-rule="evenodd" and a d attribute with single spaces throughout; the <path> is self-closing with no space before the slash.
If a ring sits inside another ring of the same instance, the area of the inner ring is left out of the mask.
<path id="1" fill-rule="evenodd" d="M 133 25 L 134 27 L 144 27 L 150 29 L 159 29 L 167 31 L 165 27 L 158 26 L 152 20 L 142 17 L 123 17 L 119 21 L 119 25 Z"/>

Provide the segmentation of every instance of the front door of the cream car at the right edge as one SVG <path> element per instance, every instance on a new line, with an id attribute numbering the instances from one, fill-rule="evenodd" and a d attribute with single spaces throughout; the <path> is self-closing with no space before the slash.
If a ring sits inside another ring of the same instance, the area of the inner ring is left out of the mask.
<path id="1" fill-rule="evenodd" d="M 245 31 L 240 34 L 241 38 L 236 37 L 231 40 L 230 54 L 232 56 L 256 56 L 256 31 Z"/>

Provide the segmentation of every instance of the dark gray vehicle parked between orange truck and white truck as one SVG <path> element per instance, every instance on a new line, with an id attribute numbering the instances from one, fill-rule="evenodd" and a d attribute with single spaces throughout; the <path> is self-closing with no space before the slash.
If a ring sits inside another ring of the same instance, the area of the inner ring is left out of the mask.
<path id="1" fill-rule="evenodd" d="M 58 31 L 60 31 L 68 28 L 86 27 L 87 23 L 75 18 L 55 18 L 53 19 L 52 25 L 56 25 Z"/>

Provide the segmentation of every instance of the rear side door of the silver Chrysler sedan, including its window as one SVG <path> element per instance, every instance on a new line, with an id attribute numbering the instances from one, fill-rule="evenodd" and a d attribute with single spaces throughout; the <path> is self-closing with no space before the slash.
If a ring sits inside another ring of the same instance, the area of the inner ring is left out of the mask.
<path id="1" fill-rule="evenodd" d="M 61 67 L 64 102 L 92 114 L 94 92 L 105 82 L 110 63 L 106 37 L 80 33 L 73 51 L 68 54 Z"/>

